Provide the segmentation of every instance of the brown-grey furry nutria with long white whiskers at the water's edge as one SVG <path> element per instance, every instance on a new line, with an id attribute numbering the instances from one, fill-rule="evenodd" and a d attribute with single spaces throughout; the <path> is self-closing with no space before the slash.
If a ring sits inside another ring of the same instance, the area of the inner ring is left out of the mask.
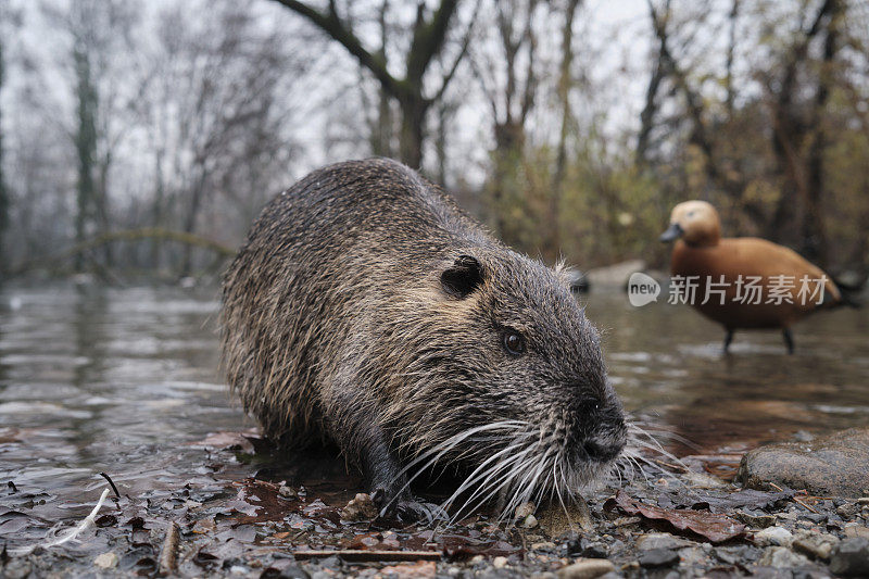
<path id="1" fill-rule="evenodd" d="M 578 490 L 626 441 L 567 273 L 390 160 L 327 166 L 263 210 L 224 279 L 222 343 L 264 433 L 336 442 L 383 512 L 419 513 L 412 467 L 455 467 L 506 512 Z"/>

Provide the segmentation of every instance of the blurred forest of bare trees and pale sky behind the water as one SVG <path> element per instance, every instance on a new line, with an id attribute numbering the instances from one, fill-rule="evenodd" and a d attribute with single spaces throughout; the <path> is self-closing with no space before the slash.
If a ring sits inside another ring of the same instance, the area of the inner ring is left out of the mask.
<path id="1" fill-rule="evenodd" d="M 869 3 L 0 2 L 0 268 L 218 268 L 316 166 L 421 167 L 507 243 L 666 263 L 673 204 L 869 266 Z"/>

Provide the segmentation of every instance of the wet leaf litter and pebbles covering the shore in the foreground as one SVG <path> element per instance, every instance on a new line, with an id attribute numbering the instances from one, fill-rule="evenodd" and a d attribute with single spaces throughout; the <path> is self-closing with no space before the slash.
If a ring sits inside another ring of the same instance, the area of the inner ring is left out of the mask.
<path id="1" fill-rule="evenodd" d="M 239 444 L 238 437 L 250 445 Z M 643 577 L 654 569 L 698 576 L 747 572 L 784 563 L 821 572 L 828 565 L 851 561 L 840 553 L 847 555 L 848 549 L 859 547 L 852 543 L 861 538 L 859 529 L 866 529 L 869 514 L 869 501 L 837 505 L 790 489 L 739 489 L 726 481 L 713 489 L 696 488 L 691 484 L 697 477 L 681 468 L 588 495 L 590 525 L 584 530 L 574 525 L 553 532 L 545 523 L 550 507 L 532 504 L 521 505 L 507 525 L 498 525 L 498 516 L 486 513 L 452 525 L 406 525 L 358 508 L 367 498 L 354 492 L 358 480 L 327 480 L 337 465 L 320 465 L 322 473 L 308 480 L 276 478 L 300 469 L 313 474 L 318 467 L 312 466 L 311 457 L 287 468 L 274 462 L 277 452 L 244 452 L 268 448 L 251 432 L 218 432 L 192 446 L 202 452 L 209 448 L 214 473 L 225 462 L 252 476 L 217 475 L 210 484 L 191 479 L 159 496 L 131 496 L 125 494 L 123 482 L 117 486 L 105 474 L 103 484 L 89 491 L 95 496 L 100 492 L 100 508 L 95 505 L 81 521 L 50 532 L 55 544 L 43 539 L 32 544 L 29 552 L 22 541 L 8 545 L 4 574 L 27 577 L 52 569 L 84 572 L 89 568 L 190 577 L 318 572 L 320 577 L 471 577 L 481 572 L 593 577 L 608 569 Z M 235 468 L 225 471 L 238 474 Z M 119 491 L 117 495 L 112 487 Z M 12 493 L 12 487 L 7 486 L 7 492 Z M 23 489 L 15 492 L 26 494 Z M 30 526 L 34 519 L 26 511 L 0 512 L 0 537 L 8 539 L 12 532 L 5 531 Z M 524 528 L 519 524 L 531 513 L 541 523 Z M 51 528 L 47 520 L 40 525 Z"/>

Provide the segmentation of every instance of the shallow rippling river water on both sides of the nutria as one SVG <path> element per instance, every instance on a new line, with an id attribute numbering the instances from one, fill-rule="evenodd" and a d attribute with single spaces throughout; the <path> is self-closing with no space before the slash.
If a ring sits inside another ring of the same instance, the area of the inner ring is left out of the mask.
<path id="1" fill-rule="evenodd" d="M 723 356 L 720 328 L 687 306 L 583 301 L 626 406 L 691 442 L 672 442 L 677 454 L 869 424 L 869 310 L 805 320 L 794 356 L 778 333 L 738 333 Z M 0 514 L 27 496 L 28 516 L 80 516 L 101 471 L 130 494 L 250 476 L 196 444 L 254 426 L 217 374 L 216 312 L 213 289 L 1 290 Z"/>

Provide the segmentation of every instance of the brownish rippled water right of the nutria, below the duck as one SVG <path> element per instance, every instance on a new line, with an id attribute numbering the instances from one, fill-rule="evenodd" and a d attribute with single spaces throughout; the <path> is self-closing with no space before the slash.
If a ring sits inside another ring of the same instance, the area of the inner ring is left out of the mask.
<path id="1" fill-rule="evenodd" d="M 669 425 L 696 448 L 743 450 L 796 430 L 869 424 L 869 313 L 842 309 L 794 328 L 796 354 L 779 332 L 738 332 L 722 355 L 722 331 L 688 306 L 632 307 L 594 295 L 589 315 L 604 330 L 610 376 L 626 406 Z"/>

